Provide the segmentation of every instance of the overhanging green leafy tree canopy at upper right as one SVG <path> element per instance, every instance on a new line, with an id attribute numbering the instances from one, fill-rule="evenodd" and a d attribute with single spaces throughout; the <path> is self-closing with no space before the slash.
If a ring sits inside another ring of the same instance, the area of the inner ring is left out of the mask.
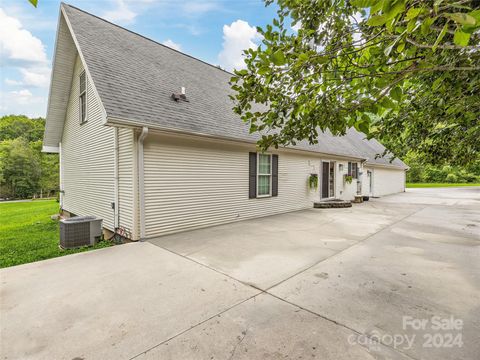
<path id="1" fill-rule="evenodd" d="M 262 148 L 355 127 L 398 156 L 478 159 L 480 1 L 276 3 L 231 80 L 235 111 L 263 134 Z"/>

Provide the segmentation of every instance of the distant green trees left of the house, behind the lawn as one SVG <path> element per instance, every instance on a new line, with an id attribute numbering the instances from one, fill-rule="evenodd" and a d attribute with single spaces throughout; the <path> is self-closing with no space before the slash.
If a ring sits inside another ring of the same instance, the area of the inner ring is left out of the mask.
<path id="1" fill-rule="evenodd" d="M 0 118 L 0 198 L 53 196 L 58 191 L 58 154 L 42 153 L 45 119 Z"/>

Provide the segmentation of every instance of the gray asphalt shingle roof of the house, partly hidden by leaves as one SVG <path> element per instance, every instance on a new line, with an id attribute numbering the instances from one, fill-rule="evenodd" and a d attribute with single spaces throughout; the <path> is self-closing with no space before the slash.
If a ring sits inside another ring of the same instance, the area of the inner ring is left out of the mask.
<path id="1" fill-rule="evenodd" d="M 107 117 L 139 126 L 258 140 L 259 135 L 250 134 L 247 124 L 232 111 L 231 74 L 73 6 L 63 7 Z M 189 102 L 171 99 L 181 87 L 186 88 Z M 398 159 L 393 163 L 375 159 L 383 146 L 363 137 L 355 130 L 342 137 L 325 133 L 318 144 L 301 143 L 296 148 L 405 166 Z"/>

